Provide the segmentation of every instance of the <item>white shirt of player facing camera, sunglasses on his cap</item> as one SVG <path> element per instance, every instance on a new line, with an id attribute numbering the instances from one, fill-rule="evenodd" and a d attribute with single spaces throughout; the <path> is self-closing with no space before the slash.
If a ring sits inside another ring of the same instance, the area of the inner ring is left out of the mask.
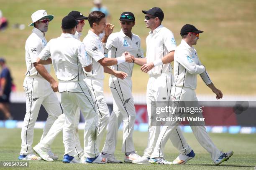
<path id="1" fill-rule="evenodd" d="M 120 57 L 123 52 L 130 52 L 131 55 L 138 58 L 143 58 L 143 51 L 141 50 L 141 38 L 138 35 L 132 33 L 132 39 L 126 36 L 122 30 L 120 32 L 115 32 L 110 34 L 106 42 L 106 47 L 108 50 L 109 58 Z M 112 69 L 123 71 L 128 74 L 128 77 L 132 76 L 134 63 L 123 62 L 118 65 L 111 66 Z"/>

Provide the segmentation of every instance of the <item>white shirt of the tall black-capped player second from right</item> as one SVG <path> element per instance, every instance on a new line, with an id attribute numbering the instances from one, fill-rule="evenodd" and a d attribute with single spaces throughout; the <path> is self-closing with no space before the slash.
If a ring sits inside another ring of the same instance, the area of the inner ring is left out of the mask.
<path id="1" fill-rule="evenodd" d="M 146 45 L 147 63 L 161 59 L 176 48 L 176 42 L 172 31 L 165 28 L 163 25 L 159 25 L 153 32 L 149 32 L 149 35 L 146 38 Z M 170 63 L 156 66 L 150 70 L 148 74 L 152 76 L 166 72 L 172 72 L 172 65 Z"/>

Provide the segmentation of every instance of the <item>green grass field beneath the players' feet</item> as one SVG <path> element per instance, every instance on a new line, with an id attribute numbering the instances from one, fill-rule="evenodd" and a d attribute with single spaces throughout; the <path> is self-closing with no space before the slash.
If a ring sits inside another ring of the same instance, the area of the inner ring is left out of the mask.
<path id="1" fill-rule="evenodd" d="M 0 161 L 17 161 L 20 152 L 20 132 L 21 129 L 0 129 Z M 34 130 L 34 144 L 38 143 L 41 138 L 42 130 Z M 83 138 L 83 131 L 79 130 L 80 140 Z M 64 145 L 62 143 L 62 134 L 59 134 L 55 139 L 52 150 L 54 153 L 59 155 L 59 160 L 54 162 L 30 161 L 29 168 L 31 170 L 57 170 L 57 169 L 169 169 L 169 170 L 254 170 L 256 166 L 256 134 L 213 134 L 210 133 L 215 145 L 223 150 L 234 150 L 234 155 L 227 161 L 219 166 L 213 165 L 210 155 L 200 146 L 191 133 L 184 133 L 185 138 L 189 145 L 193 148 L 196 153 L 195 158 L 189 160 L 186 165 L 135 165 L 131 163 L 123 164 L 106 164 L 106 165 L 95 165 L 95 164 L 64 164 L 61 162 L 61 158 L 64 154 Z M 143 150 L 147 144 L 147 133 L 134 132 L 133 137 L 137 153 L 143 154 Z M 101 148 L 103 146 L 101 143 Z M 81 140 L 81 143 L 82 140 Z M 118 145 L 116 148 L 115 155 L 118 159 L 123 160 L 123 153 L 120 152 L 122 143 L 122 132 L 118 133 Z M 178 155 L 177 150 L 172 146 L 171 142 L 168 141 L 165 148 L 166 160 L 174 160 Z M 10 169 L 10 168 L 8 168 Z"/>

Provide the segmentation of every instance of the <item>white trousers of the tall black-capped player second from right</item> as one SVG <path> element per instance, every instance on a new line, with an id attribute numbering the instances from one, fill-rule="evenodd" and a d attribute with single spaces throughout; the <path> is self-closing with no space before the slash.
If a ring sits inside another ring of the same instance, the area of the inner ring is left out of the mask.
<path id="1" fill-rule="evenodd" d="M 148 145 L 144 150 L 143 157 L 150 158 L 156 146 L 156 141 L 159 138 L 161 126 L 151 125 L 151 114 L 156 113 L 156 107 L 165 107 L 162 103 L 157 101 L 170 102 L 171 89 L 174 77 L 172 73 L 162 73 L 159 75 L 150 76 L 148 79 L 146 101 L 148 111 Z M 179 153 L 188 154 L 192 148 L 187 144 L 179 126 L 175 128 L 170 134 L 172 144 L 179 150 Z M 176 142 L 179 140 L 180 142 Z"/>

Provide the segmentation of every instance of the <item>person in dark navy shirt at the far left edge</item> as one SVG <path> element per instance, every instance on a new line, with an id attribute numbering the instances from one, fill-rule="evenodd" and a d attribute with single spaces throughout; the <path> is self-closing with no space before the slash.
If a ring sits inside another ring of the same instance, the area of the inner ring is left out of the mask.
<path id="1" fill-rule="evenodd" d="M 0 111 L 5 115 L 5 119 L 11 120 L 13 117 L 10 114 L 10 92 L 12 86 L 12 77 L 9 68 L 5 65 L 5 59 L 0 58 L 0 66 L 2 72 L 0 75 Z"/>

